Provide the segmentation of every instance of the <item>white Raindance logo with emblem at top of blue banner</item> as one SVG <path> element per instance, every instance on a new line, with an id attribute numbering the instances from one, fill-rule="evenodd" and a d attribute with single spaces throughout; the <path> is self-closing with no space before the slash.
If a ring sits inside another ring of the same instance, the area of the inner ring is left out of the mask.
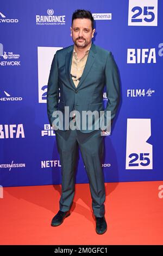
<path id="1" fill-rule="evenodd" d="M 47 14 L 36 15 L 36 25 L 65 25 L 65 15 L 53 15 L 53 9 L 48 9 Z"/>

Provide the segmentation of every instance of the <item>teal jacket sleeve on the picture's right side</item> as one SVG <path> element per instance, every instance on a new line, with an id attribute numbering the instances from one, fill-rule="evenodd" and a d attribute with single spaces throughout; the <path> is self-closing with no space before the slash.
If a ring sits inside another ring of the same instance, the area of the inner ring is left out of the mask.
<path id="1" fill-rule="evenodd" d="M 106 111 L 111 111 L 111 124 L 116 115 L 118 104 L 120 103 L 120 78 L 118 75 L 118 68 L 116 62 L 112 56 L 111 51 L 106 59 L 105 66 L 105 85 L 106 85 L 106 97 L 108 102 L 105 108 Z M 107 123 L 106 123 L 107 125 Z"/>

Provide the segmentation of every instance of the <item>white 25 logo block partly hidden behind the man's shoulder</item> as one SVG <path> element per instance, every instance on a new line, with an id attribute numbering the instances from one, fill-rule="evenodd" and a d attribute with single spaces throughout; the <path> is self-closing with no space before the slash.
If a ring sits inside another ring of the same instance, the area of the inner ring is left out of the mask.
<path id="1" fill-rule="evenodd" d="M 54 54 L 62 47 L 37 47 L 39 103 L 47 102 L 47 84 Z"/>

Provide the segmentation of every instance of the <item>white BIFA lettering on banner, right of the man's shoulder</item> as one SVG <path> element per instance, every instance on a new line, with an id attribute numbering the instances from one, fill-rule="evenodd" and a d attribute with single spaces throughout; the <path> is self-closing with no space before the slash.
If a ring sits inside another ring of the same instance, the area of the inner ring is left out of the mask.
<path id="1" fill-rule="evenodd" d="M 155 48 L 151 49 L 127 49 L 127 63 L 156 63 Z"/>

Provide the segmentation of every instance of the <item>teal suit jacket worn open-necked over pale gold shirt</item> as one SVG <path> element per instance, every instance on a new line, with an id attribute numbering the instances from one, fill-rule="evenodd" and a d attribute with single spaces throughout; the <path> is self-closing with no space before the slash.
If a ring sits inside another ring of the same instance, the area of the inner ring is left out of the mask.
<path id="1" fill-rule="evenodd" d="M 73 55 L 73 45 L 58 50 L 53 58 L 47 87 L 47 114 L 49 123 L 54 124 L 58 119 L 57 110 L 63 114 L 64 125 L 59 126 L 60 130 L 70 129 L 72 116 L 70 112 L 78 110 L 80 118 L 82 111 L 111 111 L 111 123 L 116 115 L 117 106 L 120 102 L 120 79 L 118 76 L 117 65 L 112 53 L 92 43 L 82 77 L 76 87 L 71 78 L 71 63 Z M 104 109 L 103 88 L 106 85 L 106 97 L 108 102 Z M 59 100 L 60 88 L 60 100 Z M 68 115 L 65 112 L 65 106 L 69 107 Z M 68 122 L 65 122 L 65 115 L 68 116 Z M 78 118 L 77 127 L 78 127 Z M 97 122 L 93 116 L 93 121 Z M 106 120 L 105 120 L 106 121 Z M 82 124 L 82 119 L 80 119 Z M 60 122 L 59 122 L 60 123 Z M 86 122 L 86 129 L 80 131 L 83 133 L 92 132 L 95 129 Z M 78 129 L 78 128 L 77 128 Z"/>

